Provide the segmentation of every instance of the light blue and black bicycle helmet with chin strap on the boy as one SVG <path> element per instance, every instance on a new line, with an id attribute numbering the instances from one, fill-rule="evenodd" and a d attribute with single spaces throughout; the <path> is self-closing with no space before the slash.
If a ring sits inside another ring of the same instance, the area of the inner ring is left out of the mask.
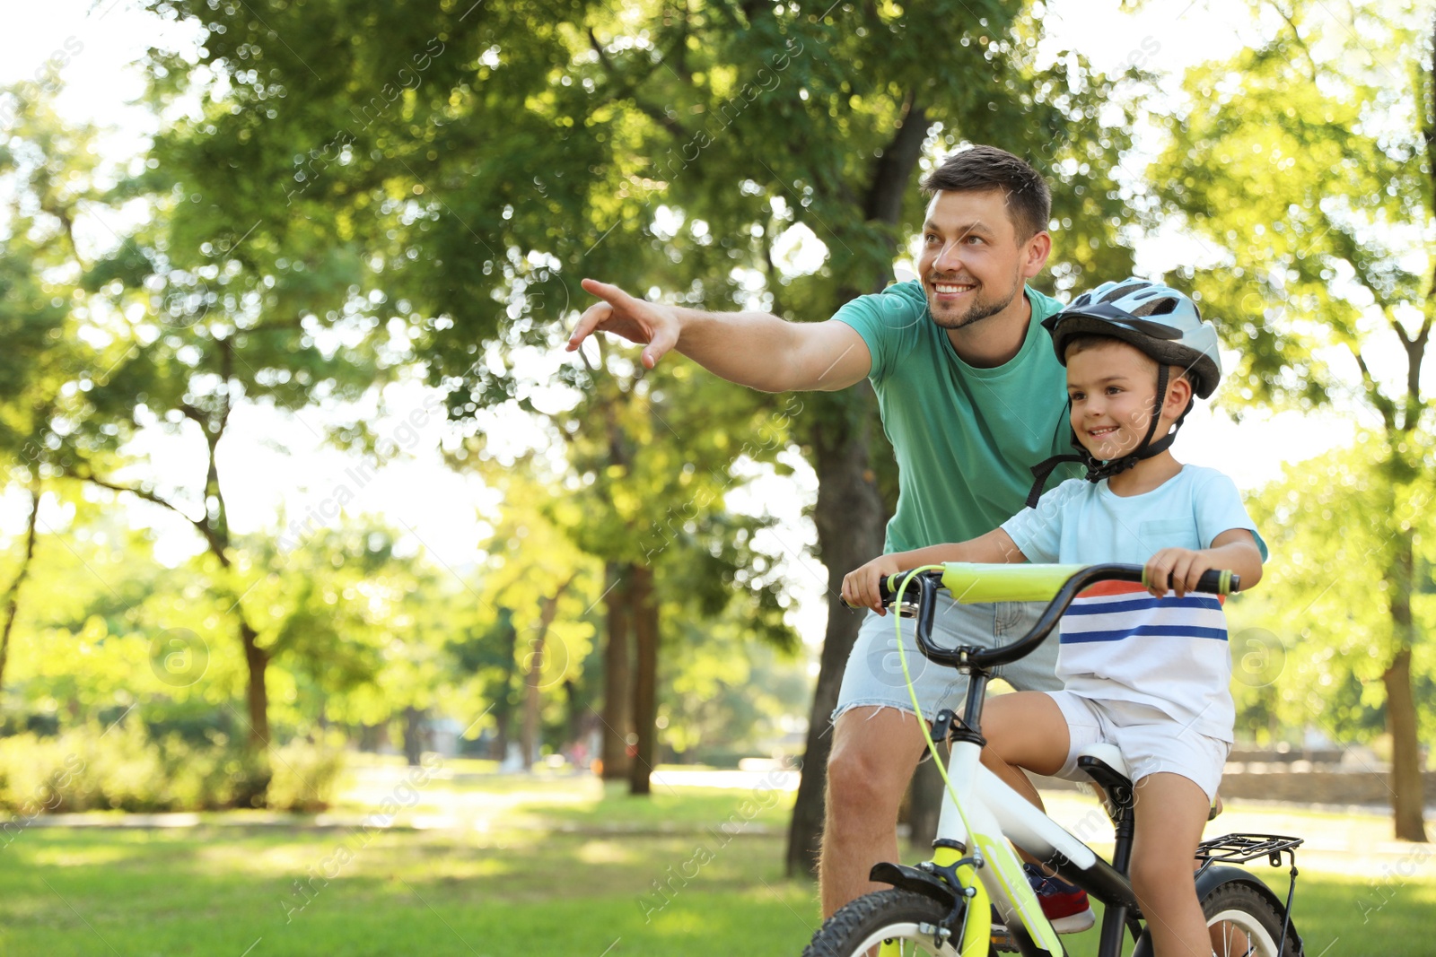
<path id="1" fill-rule="evenodd" d="M 1222 360 L 1216 352 L 1216 329 L 1202 320 L 1202 313 L 1189 297 L 1160 283 L 1127 278 L 1103 283 L 1083 293 L 1071 304 L 1043 320 L 1043 329 L 1053 336 L 1057 362 L 1067 364 L 1067 343 L 1074 336 L 1096 334 L 1119 339 L 1150 356 L 1157 363 L 1157 402 L 1166 395 L 1172 366 L 1180 366 L 1192 382 L 1192 392 L 1206 399 L 1222 380 Z M 1178 416 L 1172 430 L 1152 440 L 1160 415 L 1155 409 L 1147 433 L 1136 449 L 1120 459 L 1103 462 L 1091 455 L 1073 432 L 1076 455 L 1055 455 L 1032 466 L 1035 482 L 1027 505 L 1035 506 L 1047 476 L 1063 462 L 1078 462 L 1087 468 L 1087 481 L 1099 482 L 1124 472 L 1143 459 L 1160 455 L 1176 440 L 1178 429 L 1192 410 L 1195 397 Z"/>

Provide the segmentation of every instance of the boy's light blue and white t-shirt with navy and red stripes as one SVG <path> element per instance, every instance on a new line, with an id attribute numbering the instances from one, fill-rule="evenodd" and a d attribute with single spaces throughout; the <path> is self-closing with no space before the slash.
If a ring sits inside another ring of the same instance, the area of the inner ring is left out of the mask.
<path id="1" fill-rule="evenodd" d="M 1162 548 L 1211 548 L 1232 528 L 1251 531 L 1267 558 L 1232 481 L 1192 465 L 1142 495 L 1070 479 L 1002 525 L 1028 561 L 1083 564 L 1146 564 Z M 1215 595 L 1155 598 L 1137 584 L 1104 583 L 1063 617 L 1057 676 L 1083 697 L 1146 704 L 1232 740 L 1231 671 L 1226 616 Z"/>

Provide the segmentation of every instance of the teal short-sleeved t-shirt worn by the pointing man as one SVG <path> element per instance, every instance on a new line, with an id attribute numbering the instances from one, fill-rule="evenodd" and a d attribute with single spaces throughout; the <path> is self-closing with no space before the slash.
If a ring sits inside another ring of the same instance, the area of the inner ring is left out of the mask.
<path id="1" fill-rule="evenodd" d="M 1022 509 L 1031 466 L 1071 451 L 1067 370 L 1041 326 L 1061 303 L 1025 293 L 1032 306 L 1027 339 L 995 369 L 958 357 L 918 281 L 860 296 L 833 316 L 867 343 L 867 379 L 898 453 L 898 511 L 887 522 L 886 551 L 992 531 Z M 1080 473 L 1064 463 L 1047 488 Z"/>

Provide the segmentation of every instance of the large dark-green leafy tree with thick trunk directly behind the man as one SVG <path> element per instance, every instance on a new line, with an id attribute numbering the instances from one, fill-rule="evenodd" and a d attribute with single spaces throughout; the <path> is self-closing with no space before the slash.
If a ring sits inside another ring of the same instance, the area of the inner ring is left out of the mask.
<path id="1" fill-rule="evenodd" d="M 1037 20 L 1020 3 L 508 0 L 418 17 L 336 0 L 263 4 L 263 19 L 248 6 L 149 6 L 207 24 L 200 62 L 225 80 L 197 90 L 230 116 L 208 121 L 210 161 L 191 168 L 244 184 L 236 191 L 270 220 L 372 237 L 457 419 L 517 397 L 514 379 L 484 372 L 510 353 L 484 343 L 551 339 L 544 327 L 572 314 L 580 274 L 794 319 L 880 288 L 919 214 L 925 152 L 961 139 L 1053 176 L 1063 228 L 1090 241 L 1064 251 L 1057 281 L 1130 268 L 1127 250 L 1103 242 L 1126 212 L 1110 178 L 1127 145 L 1111 126 L 1114 86 L 1071 56 L 1038 67 Z M 154 65 L 161 83 L 204 76 L 178 57 Z M 784 244 L 804 234 L 823 237 L 826 260 L 794 277 Z M 830 575 L 880 550 L 873 428 L 866 389 L 804 406 Z M 834 597 L 790 852 L 800 872 L 814 859 L 823 727 L 856 627 Z"/>

